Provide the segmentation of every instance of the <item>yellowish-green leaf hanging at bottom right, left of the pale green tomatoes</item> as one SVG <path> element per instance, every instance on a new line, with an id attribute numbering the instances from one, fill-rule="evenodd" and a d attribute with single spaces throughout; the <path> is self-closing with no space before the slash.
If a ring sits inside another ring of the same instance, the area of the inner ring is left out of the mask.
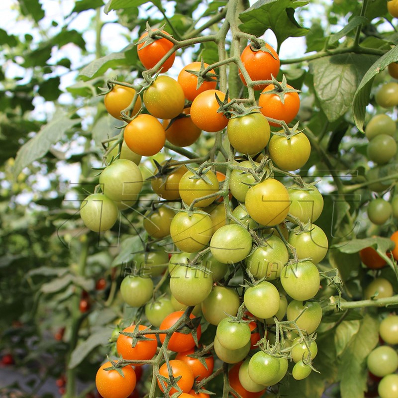
<path id="1" fill-rule="evenodd" d="M 370 315 L 361 321 L 339 362 L 341 398 L 363 398 L 367 389 L 366 357 L 379 341 L 379 323 Z"/>

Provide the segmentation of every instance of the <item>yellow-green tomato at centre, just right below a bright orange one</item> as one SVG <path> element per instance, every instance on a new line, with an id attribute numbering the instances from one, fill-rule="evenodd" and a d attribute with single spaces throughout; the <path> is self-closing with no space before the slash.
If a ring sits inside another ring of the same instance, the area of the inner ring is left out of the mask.
<path id="1" fill-rule="evenodd" d="M 230 144 L 244 154 L 261 152 L 270 140 L 270 124 L 259 112 L 229 119 L 227 124 Z"/>

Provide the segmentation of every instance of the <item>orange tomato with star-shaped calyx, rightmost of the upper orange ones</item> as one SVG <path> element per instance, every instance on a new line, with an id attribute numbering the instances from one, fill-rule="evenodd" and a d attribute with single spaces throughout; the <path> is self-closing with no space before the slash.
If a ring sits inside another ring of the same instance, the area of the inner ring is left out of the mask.
<path id="1" fill-rule="evenodd" d="M 288 89 L 293 89 L 292 86 L 287 85 Z M 284 103 L 277 94 L 267 94 L 269 91 L 274 90 L 275 86 L 270 84 L 267 86 L 260 95 L 258 105 L 261 107 L 261 113 L 266 117 L 271 117 L 276 120 L 283 120 L 290 123 L 297 115 L 300 107 L 300 98 L 296 92 L 288 92 L 284 95 Z M 271 126 L 279 126 L 279 123 L 271 122 Z"/>

